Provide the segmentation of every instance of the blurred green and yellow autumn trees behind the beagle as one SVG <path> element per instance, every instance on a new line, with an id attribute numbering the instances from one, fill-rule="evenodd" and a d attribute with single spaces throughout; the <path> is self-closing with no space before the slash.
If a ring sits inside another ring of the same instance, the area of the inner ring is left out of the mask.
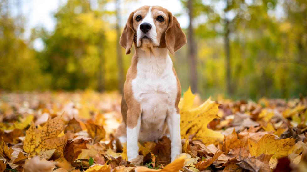
<path id="1" fill-rule="evenodd" d="M 121 90 L 134 53 L 124 55 L 118 44 L 125 7 L 92 2 L 67 0 L 54 14 L 53 32 L 35 27 L 25 38 L 25 17 L 11 15 L 9 1 L 0 0 L 0 90 Z M 188 44 L 172 59 L 183 90 L 243 99 L 307 95 L 306 0 L 181 4 L 190 19 L 183 28 Z M 44 43 L 40 51 L 36 39 Z"/>

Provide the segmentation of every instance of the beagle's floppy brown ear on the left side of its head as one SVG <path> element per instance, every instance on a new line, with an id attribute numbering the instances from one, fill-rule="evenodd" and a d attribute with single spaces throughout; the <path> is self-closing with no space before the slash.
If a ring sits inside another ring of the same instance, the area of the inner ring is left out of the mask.
<path id="1" fill-rule="evenodd" d="M 128 21 L 125 24 L 123 33 L 121 33 L 121 38 L 119 39 L 119 44 L 126 49 L 126 54 L 130 54 L 130 48 L 132 47 L 133 43 L 133 15 L 134 12 L 130 14 Z"/>

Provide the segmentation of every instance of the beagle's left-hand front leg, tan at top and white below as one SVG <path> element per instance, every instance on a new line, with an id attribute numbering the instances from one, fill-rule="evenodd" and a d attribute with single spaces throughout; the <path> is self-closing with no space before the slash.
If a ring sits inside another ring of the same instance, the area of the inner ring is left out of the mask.
<path id="1" fill-rule="evenodd" d="M 127 111 L 127 156 L 128 161 L 138 156 L 138 136 L 141 127 L 141 112 Z"/>

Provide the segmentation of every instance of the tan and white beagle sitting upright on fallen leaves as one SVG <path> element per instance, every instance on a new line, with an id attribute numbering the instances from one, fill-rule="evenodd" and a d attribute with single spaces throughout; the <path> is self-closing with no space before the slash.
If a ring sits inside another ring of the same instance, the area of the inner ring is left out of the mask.
<path id="1" fill-rule="evenodd" d="M 128 161 L 138 154 L 138 141 L 171 139 L 171 161 L 182 153 L 178 103 L 181 86 L 168 52 L 174 54 L 186 35 L 175 16 L 160 6 L 143 6 L 133 11 L 120 37 L 120 45 L 132 57 L 121 102 L 123 122 L 116 131 L 127 142 Z"/>

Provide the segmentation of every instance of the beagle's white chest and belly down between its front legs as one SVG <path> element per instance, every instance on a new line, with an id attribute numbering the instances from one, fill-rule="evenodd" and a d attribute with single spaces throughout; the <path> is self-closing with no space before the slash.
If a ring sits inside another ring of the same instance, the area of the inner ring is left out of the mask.
<path id="1" fill-rule="evenodd" d="M 173 64 L 168 55 L 164 58 L 139 57 L 132 90 L 142 110 L 140 140 L 155 140 L 164 134 L 165 118 L 175 107 L 177 89 Z"/>

